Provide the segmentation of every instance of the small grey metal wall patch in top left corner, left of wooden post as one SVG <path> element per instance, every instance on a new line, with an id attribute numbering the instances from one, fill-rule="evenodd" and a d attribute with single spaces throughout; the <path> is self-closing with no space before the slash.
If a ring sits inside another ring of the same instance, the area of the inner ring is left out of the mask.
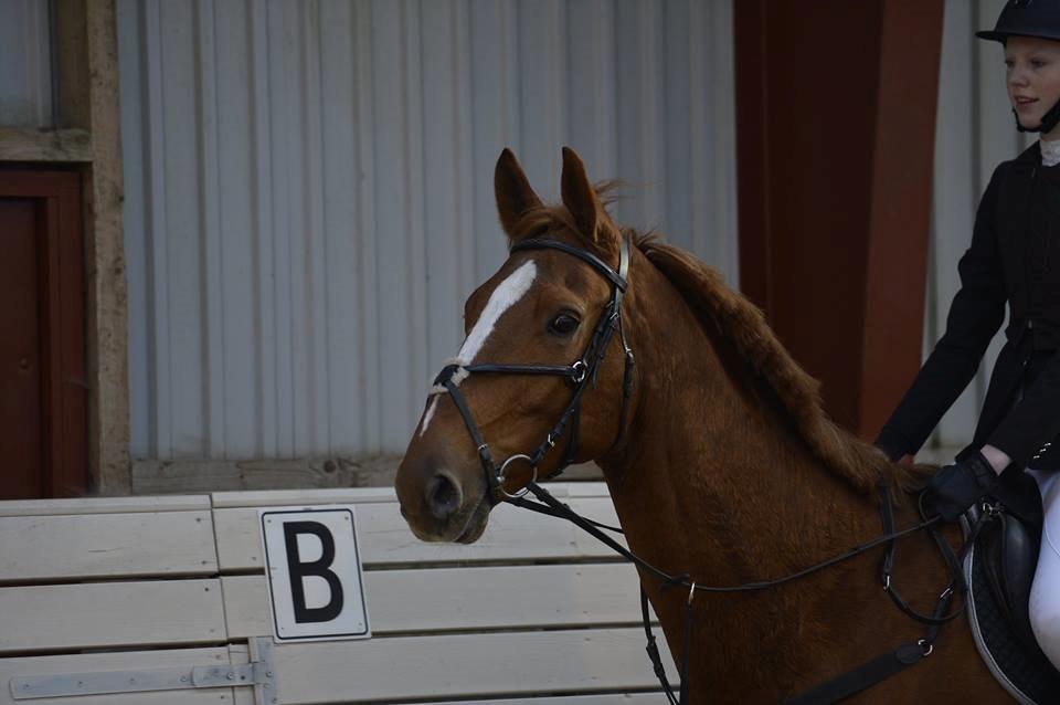
<path id="1" fill-rule="evenodd" d="M 47 0 L 0 0 L 0 125 L 52 125 Z"/>

